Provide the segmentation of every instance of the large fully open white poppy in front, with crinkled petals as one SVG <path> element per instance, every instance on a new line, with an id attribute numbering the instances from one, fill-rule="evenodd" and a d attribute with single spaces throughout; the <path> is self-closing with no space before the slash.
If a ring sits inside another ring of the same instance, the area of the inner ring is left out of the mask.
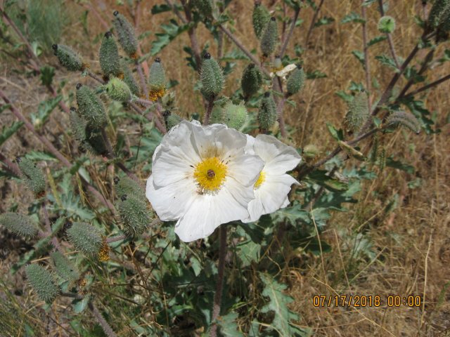
<path id="1" fill-rule="evenodd" d="M 248 218 L 253 185 L 264 163 L 245 152 L 243 133 L 221 124 L 181 121 L 153 154 L 146 196 L 163 221 L 178 220 L 184 242 L 212 234 L 221 223 Z"/>

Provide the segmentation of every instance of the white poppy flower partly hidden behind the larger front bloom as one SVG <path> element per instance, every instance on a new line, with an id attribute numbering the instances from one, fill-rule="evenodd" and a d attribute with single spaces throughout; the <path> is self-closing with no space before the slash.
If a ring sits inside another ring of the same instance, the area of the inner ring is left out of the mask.
<path id="1" fill-rule="evenodd" d="M 293 147 L 273 136 L 248 136 L 247 144 L 246 152 L 257 154 L 265 164 L 255 183 L 255 199 L 248 204 L 250 216 L 243 220 L 244 223 L 256 221 L 263 214 L 288 206 L 290 186 L 298 182 L 286 172 L 294 169 L 302 160 Z"/>

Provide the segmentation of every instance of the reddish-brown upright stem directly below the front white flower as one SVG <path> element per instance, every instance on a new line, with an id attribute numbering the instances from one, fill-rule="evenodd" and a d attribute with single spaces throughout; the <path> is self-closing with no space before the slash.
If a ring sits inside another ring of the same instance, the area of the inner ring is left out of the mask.
<path id="1" fill-rule="evenodd" d="M 214 305 L 212 307 L 212 326 L 211 337 L 217 336 L 217 323 L 214 322 L 220 315 L 220 306 L 222 300 L 222 292 L 224 290 L 224 271 L 226 257 L 226 225 L 219 227 L 219 272 L 217 275 L 216 292 L 214 293 Z"/>

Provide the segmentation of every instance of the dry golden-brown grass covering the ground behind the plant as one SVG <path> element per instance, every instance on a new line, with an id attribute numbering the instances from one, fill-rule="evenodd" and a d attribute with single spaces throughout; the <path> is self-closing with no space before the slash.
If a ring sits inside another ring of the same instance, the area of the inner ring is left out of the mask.
<path id="1" fill-rule="evenodd" d="M 82 22 L 79 20 L 86 8 L 73 4 L 72 1 L 66 2 L 70 8 L 71 24 L 63 31 L 63 42 L 76 46 L 89 59 L 91 67 L 98 69 L 95 59 L 99 43 L 94 39 L 91 42 L 84 39 Z M 113 0 L 88 2 L 89 6 L 96 8 L 105 22 L 109 22 L 110 11 L 116 8 L 117 3 Z M 162 22 L 174 18 L 174 14 L 170 12 L 154 16 L 150 14 L 150 8 L 159 2 L 162 1 L 142 2 L 140 32 L 158 32 Z M 274 8 L 282 1 L 263 2 Z M 388 13 L 397 20 L 397 29 L 393 34 L 394 46 L 397 55 L 405 58 L 420 36 L 414 17 L 423 15 L 423 7 L 421 1 L 415 0 L 391 0 L 389 3 Z M 252 6 L 253 1 L 250 0 L 234 0 L 229 6 L 229 11 L 236 18 L 235 34 L 249 49 L 257 48 L 257 41 L 250 34 Z M 368 9 L 369 37 L 378 34 L 379 14 L 376 10 L 375 5 Z M 326 122 L 339 126 L 347 111 L 345 102 L 335 95 L 335 91 L 345 90 L 352 80 L 365 81 L 364 70 L 352 55 L 355 49 L 362 49 L 361 26 L 340 23 L 351 11 L 360 11 L 359 0 L 325 0 L 319 16 L 330 16 L 335 18 L 335 22 L 314 29 L 308 46 L 304 46 L 304 67 L 311 71 L 319 70 L 327 74 L 327 77 L 307 81 L 302 95 L 294 98 L 297 106 L 286 106 L 286 123 L 297 128 L 291 140 L 296 147 L 315 144 L 323 154 L 333 150 L 335 143 L 326 131 Z M 300 18 L 304 22 L 295 29 L 288 54 L 293 53 L 294 43 L 304 44 L 312 15 L 311 8 L 300 12 Z M 88 23 L 93 37 L 105 31 L 101 20 L 93 13 L 88 15 Z M 200 46 L 210 43 L 214 53 L 216 47 L 209 32 L 200 27 L 197 34 Z M 144 53 L 150 48 L 151 39 L 153 37 L 150 35 L 143 40 L 141 48 Z M 160 53 L 165 62 L 167 77 L 179 81 L 179 86 L 174 91 L 179 113 L 184 117 L 203 111 L 200 95 L 193 91 L 193 83 L 198 75 L 186 67 L 184 60 L 186 53 L 183 46 L 186 45 L 189 45 L 189 40 L 185 33 Z M 224 50 L 229 48 L 233 48 L 232 42 L 225 39 Z M 442 54 L 445 48 L 449 48 L 448 42 L 439 45 L 436 53 Z M 385 41 L 376 44 L 369 51 L 371 76 L 379 82 L 379 88 L 373 89 L 372 101 L 379 97 L 392 76 L 392 72 L 375 60 L 374 56 L 380 53 L 389 53 Z M 424 53 L 419 52 L 413 64 L 419 64 L 424 56 Z M 56 64 L 51 55 L 49 60 Z M 17 66 L 6 56 L 1 57 L 0 88 L 27 114 L 47 93 L 38 86 L 39 80 L 36 77 L 13 72 L 13 68 Z M 239 85 L 240 70 L 243 67 L 244 62 L 238 62 L 235 71 L 226 79 L 225 94 L 231 93 Z M 438 79 L 449 74 L 450 66 L 445 65 L 428 72 L 432 73 L 431 79 Z M 57 72 L 56 78 L 69 81 L 70 85 L 63 88 L 63 93 L 65 97 L 74 100 L 72 88 L 79 79 L 63 70 Z M 364 181 L 361 192 L 356 194 L 359 203 L 349 206 L 346 213 L 333 214 L 328 227 L 321 233 L 321 239 L 330 244 L 331 251 L 320 256 L 293 252 L 298 265 L 286 272 L 289 275 L 289 293 L 295 298 L 291 309 L 300 316 L 296 323 L 310 327 L 314 336 L 450 336 L 449 83 L 444 82 L 425 99 L 428 110 L 435 114 L 435 123 L 441 128 L 440 133 L 427 135 L 422 132 L 415 135 L 399 129 L 380 139 L 390 155 L 404 159 L 414 166 L 416 173 L 386 168 L 379 173 L 377 179 Z M 1 113 L 0 119 L 3 124 L 12 121 L 13 115 L 5 111 Z M 68 116 L 60 111 L 55 112 L 49 125 L 51 127 L 47 126 L 46 133 L 56 136 L 65 133 Z M 132 134 L 134 130 L 129 129 L 129 132 Z M 35 145 L 30 133 L 23 130 L 4 145 L 2 152 L 13 158 L 23 147 L 39 150 L 41 145 Z M 347 165 L 350 167 L 354 164 L 354 161 L 348 161 Z M 137 175 L 139 176 L 139 171 Z M 139 178 L 144 180 L 147 177 Z M 8 209 L 13 202 L 30 201 L 20 191 L 17 183 L 0 180 L 0 211 Z M 395 201 L 394 209 L 386 214 L 385 207 L 391 201 Z M 18 259 L 17 253 L 27 250 L 27 245 L 6 232 L 1 232 L 0 235 L 0 281 L 4 282 L 0 282 L 0 293 L 2 287 L 6 289 L 11 284 L 13 292 L 18 291 L 23 287 L 23 278 L 20 274 L 8 276 L 8 267 Z M 313 298 L 319 295 L 380 296 L 383 305 L 378 308 L 336 308 L 333 305 L 316 308 Z M 390 295 L 419 295 L 423 305 L 420 308 L 405 305 L 390 308 L 386 305 L 387 296 Z M 16 308 L 32 308 L 28 315 L 37 326 L 41 324 L 41 336 L 47 336 L 45 333 L 51 333 L 49 336 L 67 336 L 65 329 L 43 318 L 43 314 L 34 308 L 32 298 L 18 298 L 23 303 Z M 27 315 L 27 312 L 18 312 L 18 315 Z M 63 315 L 61 305 L 56 309 L 55 319 Z M 38 323 L 39 317 L 41 322 Z"/>

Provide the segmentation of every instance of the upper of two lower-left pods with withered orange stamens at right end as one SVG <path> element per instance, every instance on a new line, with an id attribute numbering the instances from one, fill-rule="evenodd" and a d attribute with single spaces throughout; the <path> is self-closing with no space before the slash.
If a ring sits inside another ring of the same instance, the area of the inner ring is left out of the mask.
<path id="1" fill-rule="evenodd" d="M 100 251 L 103 242 L 101 233 L 89 223 L 73 223 L 67 233 L 75 249 L 91 256 L 96 256 Z"/>

